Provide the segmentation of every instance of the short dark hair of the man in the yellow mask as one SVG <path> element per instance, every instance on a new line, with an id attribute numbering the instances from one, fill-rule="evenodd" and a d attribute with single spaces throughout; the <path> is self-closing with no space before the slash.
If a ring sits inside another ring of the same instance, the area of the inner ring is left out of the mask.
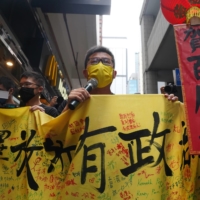
<path id="1" fill-rule="evenodd" d="M 98 52 L 104 52 L 107 53 L 108 55 L 110 55 L 112 57 L 112 61 L 113 61 L 113 68 L 115 68 L 115 57 L 113 55 L 113 53 L 106 47 L 103 46 L 94 46 L 92 48 L 90 48 L 85 56 L 85 69 L 87 67 L 87 62 L 89 60 L 89 57 L 94 54 L 94 53 L 98 53 Z"/>

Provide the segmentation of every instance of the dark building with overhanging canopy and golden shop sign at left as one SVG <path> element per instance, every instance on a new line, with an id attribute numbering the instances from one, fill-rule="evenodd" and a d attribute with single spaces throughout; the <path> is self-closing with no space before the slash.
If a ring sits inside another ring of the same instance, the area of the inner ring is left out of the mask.
<path id="1" fill-rule="evenodd" d="M 101 15 L 110 7 L 110 0 L 0 1 L 0 76 L 18 85 L 20 75 L 33 70 L 46 82 L 42 98 L 67 98 L 86 83 L 85 53 L 101 44 Z"/>

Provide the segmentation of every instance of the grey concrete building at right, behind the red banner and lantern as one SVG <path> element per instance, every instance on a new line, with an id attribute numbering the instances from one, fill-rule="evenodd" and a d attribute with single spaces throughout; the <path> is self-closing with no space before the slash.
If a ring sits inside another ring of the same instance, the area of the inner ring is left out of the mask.
<path id="1" fill-rule="evenodd" d="M 164 18 L 160 0 L 144 0 L 140 14 L 143 88 L 158 93 L 158 82 L 174 82 L 178 68 L 173 26 Z"/>

